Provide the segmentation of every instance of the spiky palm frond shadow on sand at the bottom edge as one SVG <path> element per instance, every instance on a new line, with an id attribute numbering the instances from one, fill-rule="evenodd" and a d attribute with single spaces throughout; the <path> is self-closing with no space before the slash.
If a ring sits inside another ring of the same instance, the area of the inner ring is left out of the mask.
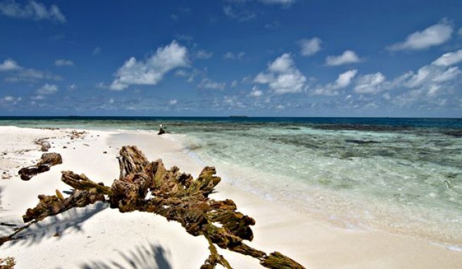
<path id="1" fill-rule="evenodd" d="M 168 261 L 168 253 L 162 246 L 149 244 L 148 246 L 137 246 L 128 253 L 117 251 L 123 261 L 90 261 L 80 265 L 82 269 L 109 269 L 109 268 L 158 268 L 171 269 Z M 120 259 L 119 259 L 120 260 Z"/>

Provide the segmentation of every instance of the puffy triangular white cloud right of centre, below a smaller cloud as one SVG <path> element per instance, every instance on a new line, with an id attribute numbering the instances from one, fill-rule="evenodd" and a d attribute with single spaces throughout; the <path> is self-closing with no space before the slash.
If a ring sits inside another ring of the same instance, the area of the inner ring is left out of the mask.
<path id="1" fill-rule="evenodd" d="M 254 82 L 268 84 L 275 94 L 288 94 L 301 92 L 306 83 L 306 77 L 302 75 L 290 54 L 282 54 L 268 64 L 268 70 L 259 73 Z"/>

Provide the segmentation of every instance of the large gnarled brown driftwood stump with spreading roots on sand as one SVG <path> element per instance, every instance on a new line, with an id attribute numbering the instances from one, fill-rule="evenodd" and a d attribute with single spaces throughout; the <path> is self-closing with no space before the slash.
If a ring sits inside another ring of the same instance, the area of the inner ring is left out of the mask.
<path id="1" fill-rule="evenodd" d="M 67 198 L 58 191 L 54 196 L 39 195 L 39 204 L 28 209 L 23 220 L 26 223 L 37 222 L 69 208 L 108 201 L 111 208 L 118 208 L 122 213 L 156 213 L 181 223 L 189 234 L 204 236 L 210 255 L 201 268 L 215 268 L 217 264 L 231 268 L 230 263 L 218 254 L 216 245 L 257 258 L 266 268 L 304 268 L 279 252 L 267 255 L 244 243 L 244 240 L 254 238 L 250 226 L 255 224 L 255 220 L 237 212 L 232 200 L 208 198 L 221 180 L 216 176 L 215 168 L 204 168 L 194 180 L 191 175 L 180 173 L 175 166 L 167 170 L 161 160 L 149 162 L 136 146 L 123 146 L 118 159 L 120 176 L 111 187 L 92 182 L 85 175 L 65 171 L 61 180 L 73 187 L 75 192 Z M 108 196 L 107 200 L 105 196 Z"/>

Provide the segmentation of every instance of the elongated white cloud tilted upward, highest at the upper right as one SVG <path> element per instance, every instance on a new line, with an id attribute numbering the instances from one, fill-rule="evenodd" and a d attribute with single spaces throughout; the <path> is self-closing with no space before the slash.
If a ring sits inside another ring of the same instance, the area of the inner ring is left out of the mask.
<path id="1" fill-rule="evenodd" d="M 447 42 L 451 38 L 453 27 L 447 20 L 427 27 L 423 31 L 413 32 L 404 42 L 398 42 L 388 47 L 391 51 L 427 49 Z"/>

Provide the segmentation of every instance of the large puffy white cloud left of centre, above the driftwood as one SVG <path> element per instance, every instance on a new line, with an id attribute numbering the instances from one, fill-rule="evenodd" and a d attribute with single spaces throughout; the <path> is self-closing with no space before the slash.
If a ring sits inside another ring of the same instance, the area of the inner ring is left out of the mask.
<path id="1" fill-rule="evenodd" d="M 110 89 L 123 90 L 130 85 L 156 85 L 168 71 L 188 65 L 186 47 L 173 41 L 158 48 L 146 61 L 137 61 L 135 57 L 128 59 L 118 69 L 117 78 L 112 82 Z"/>

